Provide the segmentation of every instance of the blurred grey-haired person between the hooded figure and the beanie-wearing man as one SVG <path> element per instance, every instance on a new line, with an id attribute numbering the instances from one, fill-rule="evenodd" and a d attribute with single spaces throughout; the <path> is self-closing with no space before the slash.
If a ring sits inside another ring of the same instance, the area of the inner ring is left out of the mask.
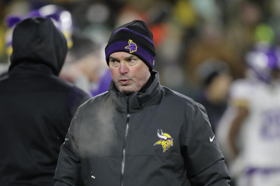
<path id="1" fill-rule="evenodd" d="M 72 40 L 73 47 L 69 49 L 59 77 L 92 97 L 106 92 L 112 78 L 107 65 L 101 62 L 100 44 L 78 33 L 72 35 Z"/>

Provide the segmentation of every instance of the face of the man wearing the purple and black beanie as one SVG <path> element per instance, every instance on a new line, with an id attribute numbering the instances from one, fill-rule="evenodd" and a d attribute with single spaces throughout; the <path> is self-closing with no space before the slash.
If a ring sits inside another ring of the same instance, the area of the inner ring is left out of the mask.
<path id="1" fill-rule="evenodd" d="M 142 60 L 126 52 L 112 53 L 109 68 L 112 80 L 123 94 L 138 92 L 151 75 L 149 67 Z"/>

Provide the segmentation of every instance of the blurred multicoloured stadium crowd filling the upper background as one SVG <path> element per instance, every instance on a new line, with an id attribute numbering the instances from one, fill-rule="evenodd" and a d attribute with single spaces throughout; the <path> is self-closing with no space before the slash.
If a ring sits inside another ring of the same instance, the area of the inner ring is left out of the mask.
<path id="1" fill-rule="evenodd" d="M 205 60 L 216 58 L 226 62 L 232 76 L 240 78 L 244 71 L 244 53 L 256 41 L 279 42 L 280 3 L 277 0 L 145 0 L 141 3 L 127 0 L 4 0 L 0 3 L 2 64 L 7 62 L 7 15 L 24 16 L 48 4 L 62 6 L 72 14 L 74 33 L 91 38 L 102 48 L 102 55 L 113 28 L 133 19 L 142 19 L 154 33 L 155 70 L 161 73 L 161 83 L 194 98 L 201 78 L 196 69 Z"/>

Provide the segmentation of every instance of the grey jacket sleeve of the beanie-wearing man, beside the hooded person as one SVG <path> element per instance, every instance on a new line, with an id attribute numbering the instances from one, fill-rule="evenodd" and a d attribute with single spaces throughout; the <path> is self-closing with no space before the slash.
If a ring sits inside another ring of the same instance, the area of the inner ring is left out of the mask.
<path id="1" fill-rule="evenodd" d="M 72 119 L 65 142 L 60 147 L 54 176 L 56 180 L 55 186 L 83 185 L 81 180 L 81 162 L 78 153 L 81 115 L 80 107 Z"/>

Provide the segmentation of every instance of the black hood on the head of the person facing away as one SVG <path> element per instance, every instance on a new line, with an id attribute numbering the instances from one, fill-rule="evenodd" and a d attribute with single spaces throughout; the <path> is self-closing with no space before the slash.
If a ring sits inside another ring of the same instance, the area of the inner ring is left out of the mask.
<path id="1" fill-rule="evenodd" d="M 13 31 L 11 66 L 40 64 L 48 66 L 58 75 L 68 48 L 63 34 L 49 18 L 32 17 L 15 26 Z"/>

